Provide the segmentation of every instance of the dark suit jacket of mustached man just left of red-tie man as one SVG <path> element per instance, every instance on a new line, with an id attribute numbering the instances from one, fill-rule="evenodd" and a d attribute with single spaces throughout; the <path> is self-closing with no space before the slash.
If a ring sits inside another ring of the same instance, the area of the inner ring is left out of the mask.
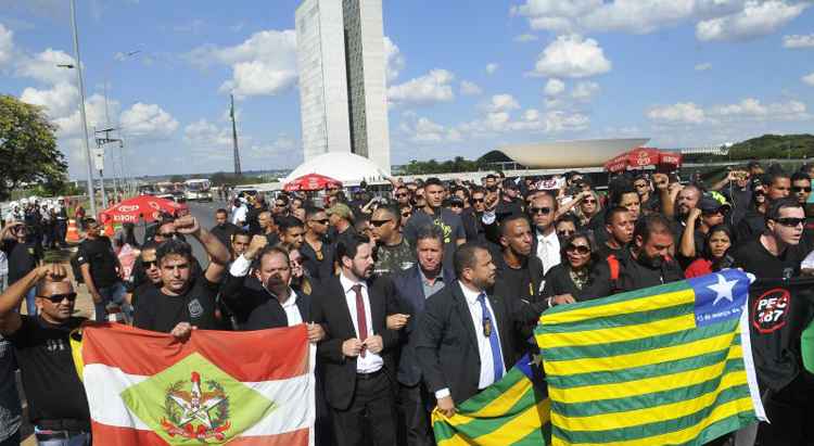
<path id="1" fill-rule="evenodd" d="M 263 330 L 289 326 L 280 302 L 254 276 L 227 273 L 220 297 L 234 313 L 241 330 Z M 310 296 L 297 293 L 296 306 L 304 322 L 310 321 Z"/>

